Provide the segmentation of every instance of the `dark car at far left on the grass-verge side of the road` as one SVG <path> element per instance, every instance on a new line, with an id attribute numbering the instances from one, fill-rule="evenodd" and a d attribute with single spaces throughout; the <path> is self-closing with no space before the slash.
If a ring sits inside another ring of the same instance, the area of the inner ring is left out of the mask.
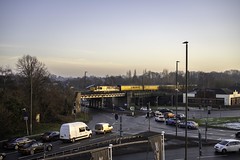
<path id="1" fill-rule="evenodd" d="M 3 148 L 17 150 L 19 146 L 22 146 L 31 141 L 32 141 L 32 139 L 29 139 L 27 137 L 16 137 L 16 138 L 9 139 L 7 142 L 4 142 Z"/>

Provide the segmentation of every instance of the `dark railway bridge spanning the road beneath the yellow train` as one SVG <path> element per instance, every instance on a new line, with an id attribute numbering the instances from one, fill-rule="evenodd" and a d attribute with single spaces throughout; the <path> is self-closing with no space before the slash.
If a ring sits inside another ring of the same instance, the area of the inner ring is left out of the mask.
<path id="1" fill-rule="evenodd" d="M 182 93 L 178 93 L 179 97 Z M 135 106 L 142 107 L 147 106 L 149 103 L 151 106 L 158 105 L 171 105 L 175 102 L 176 91 L 119 91 L 119 92 L 80 92 L 75 93 L 75 105 L 74 109 L 77 112 L 81 112 L 81 106 L 87 105 L 89 107 L 113 108 L 115 106 L 127 107 Z M 182 98 L 181 98 L 182 99 Z M 180 100 L 180 98 L 179 98 Z"/>

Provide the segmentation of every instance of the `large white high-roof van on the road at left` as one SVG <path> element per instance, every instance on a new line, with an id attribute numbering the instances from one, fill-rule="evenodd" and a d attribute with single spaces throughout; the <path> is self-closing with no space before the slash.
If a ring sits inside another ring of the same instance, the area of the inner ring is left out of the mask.
<path id="1" fill-rule="evenodd" d="M 71 141 L 90 138 L 92 131 L 84 122 L 64 123 L 60 128 L 60 140 Z"/>

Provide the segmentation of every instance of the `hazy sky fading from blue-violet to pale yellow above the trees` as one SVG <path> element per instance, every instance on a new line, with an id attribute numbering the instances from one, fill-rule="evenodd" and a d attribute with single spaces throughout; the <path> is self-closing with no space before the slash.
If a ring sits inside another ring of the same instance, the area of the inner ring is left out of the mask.
<path id="1" fill-rule="evenodd" d="M 240 0 L 0 0 L 0 66 L 60 76 L 240 70 Z"/>

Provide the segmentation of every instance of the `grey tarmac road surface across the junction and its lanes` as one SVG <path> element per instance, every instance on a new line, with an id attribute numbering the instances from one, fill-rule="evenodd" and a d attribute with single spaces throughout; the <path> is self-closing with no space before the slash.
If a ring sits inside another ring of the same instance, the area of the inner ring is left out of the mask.
<path id="1" fill-rule="evenodd" d="M 116 121 L 115 120 L 115 113 L 111 113 L 111 112 L 102 112 L 99 110 L 91 110 L 89 111 L 91 112 L 91 114 L 93 115 L 93 119 L 88 123 L 88 126 L 94 130 L 94 126 L 96 123 L 98 122 L 108 122 L 110 124 L 113 125 L 114 127 L 114 131 L 112 134 L 107 134 L 107 135 L 93 135 L 93 137 L 91 139 L 85 139 L 85 140 L 81 140 L 79 142 L 76 143 L 61 143 L 61 141 L 57 141 L 57 142 L 53 142 L 53 151 L 51 151 L 50 153 L 53 153 L 55 151 L 63 151 L 66 149 L 71 149 L 71 148 L 76 148 L 78 146 L 82 146 L 84 144 L 87 144 L 91 141 L 101 141 L 104 138 L 107 138 L 108 136 L 111 137 L 118 137 L 120 135 L 119 129 L 120 129 L 120 118 Z M 184 113 L 183 111 L 179 111 L 181 113 Z M 207 115 L 207 111 L 203 111 L 203 110 L 194 110 L 194 109 L 190 109 L 189 111 L 189 117 L 190 116 L 194 116 L 195 118 L 204 118 L 206 116 L 239 116 L 240 111 L 239 110 L 225 110 L 225 111 L 212 111 L 211 115 Z M 138 116 L 130 116 L 130 114 L 124 114 L 122 112 L 118 113 L 119 117 L 122 117 L 122 135 L 123 136 L 127 136 L 127 135 L 134 135 L 134 134 L 138 134 L 140 132 L 145 132 L 148 130 L 151 131 L 155 131 L 155 132 L 159 132 L 161 133 L 162 131 L 164 131 L 166 134 L 171 134 L 171 135 L 175 135 L 176 134 L 176 127 L 175 126 L 168 126 L 165 123 L 161 123 L 161 122 L 155 122 L 154 118 L 150 118 L 147 119 L 145 118 L 145 115 L 138 115 Z M 235 136 L 235 132 L 233 130 L 221 130 L 221 129 L 214 129 L 214 128 L 208 128 L 207 132 L 206 132 L 206 128 L 205 126 L 200 127 L 200 132 L 202 134 L 202 139 L 203 140 L 209 140 L 209 139 L 215 139 L 215 140 L 220 140 L 220 139 L 225 139 L 225 138 L 234 138 Z M 185 135 L 185 129 L 182 128 L 177 128 L 177 134 L 178 136 L 184 136 Z M 198 130 L 188 130 L 188 137 L 198 137 Z M 206 149 L 203 150 L 203 155 L 211 155 L 213 153 L 213 150 L 211 149 Z M 189 154 L 192 152 L 197 152 L 198 149 L 194 149 L 194 151 L 191 151 L 191 148 L 189 148 Z M 2 152 L 2 151 L 1 151 Z M 5 152 L 5 151 L 4 151 Z M 31 156 L 21 156 L 19 153 L 17 153 L 17 151 L 6 151 L 7 152 L 7 158 L 6 160 L 9 159 L 17 159 L 17 157 L 19 157 L 19 159 L 24 160 L 24 159 L 28 159 Z M 171 151 L 167 150 L 166 151 L 167 154 L 169 154 Z M 180 153 L 183 151 L 179 151 Z M 210 152 L 211 154 L 206 154 L 206 153 Z M 175 151 L 173 152 L 175 153 Z M 37 155 L 42 155 L 43 153 L 39 153 L 36 154 L 34 156 Z M 197 153 L 195 153 L 196 155 Z M 149 154 L 150 156 L 151 154 Z M 169 156 L 171 155 L 171 153 L 169 154 Z M 234 154 L 232 154 L 234 156 Z M 189 155 L 191 156 L 191 155 Z M 229 156 L 231 157 L 231 155 L 227 155 L 227 157 L 229 158 Z M 142 157 L 142 156 L 140 156 Z M 221 157 L 221 156 L 218 156 Z M 223 156 L 223 158 L 226 158 L 226 156 Z M 120 157 L 121 158 L 121 157 Z M 179 159 L 181 159 L 182 157 L 179 156 Z M 195 156 L 196 158 L 196 156 Z M 114 158 L 115 159 L 115 158 Z"/>

